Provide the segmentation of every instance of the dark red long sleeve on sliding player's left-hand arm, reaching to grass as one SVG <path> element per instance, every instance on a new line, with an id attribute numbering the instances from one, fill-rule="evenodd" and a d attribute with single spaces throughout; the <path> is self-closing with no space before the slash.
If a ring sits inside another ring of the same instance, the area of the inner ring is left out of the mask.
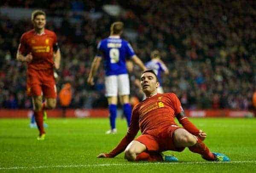
<path id="1" fill-rule="evenodd" d="M 137 112 L 137 106 L 134 107 L 131 115 L 131 123 L 128 128 L 127 134 L 121 140 L 121 142 L 110 152 L 108 155 L 110 157 L 115 157 L 119 153 L 122 153 L 129 143 L 135 138 L 139 131 L 139 114 Z"/>

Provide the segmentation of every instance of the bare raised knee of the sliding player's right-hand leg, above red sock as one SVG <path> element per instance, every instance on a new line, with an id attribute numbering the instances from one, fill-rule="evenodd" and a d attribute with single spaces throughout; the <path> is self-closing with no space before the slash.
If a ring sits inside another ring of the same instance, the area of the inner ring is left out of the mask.
<path id="1" fill-rule="evenodd" d="M 175 147 L 189 147 L 196 144 L 196 138 L 183 128 L 178 128 L 173 133 Z"/>

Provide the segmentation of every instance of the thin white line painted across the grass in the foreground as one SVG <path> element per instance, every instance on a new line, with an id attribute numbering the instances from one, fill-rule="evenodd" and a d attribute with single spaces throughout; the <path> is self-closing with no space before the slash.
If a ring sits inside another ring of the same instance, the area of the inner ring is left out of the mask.
<path id="1" fill-rule="evenodd" d="M 104 167 L 104 166 L 141 166 L 150 164 L 230 164 L 230 163 L 256 163 L 252 161 L 231 161 L 231 162 L 145 162 L 145 163 L 124 163 L 124 164 L 78 164 L 78 165 L 55 165 L 38 167 L 0 167 L 0 170 L 34 170 L 42 168 L 66 168 L 66 167 Z"/>

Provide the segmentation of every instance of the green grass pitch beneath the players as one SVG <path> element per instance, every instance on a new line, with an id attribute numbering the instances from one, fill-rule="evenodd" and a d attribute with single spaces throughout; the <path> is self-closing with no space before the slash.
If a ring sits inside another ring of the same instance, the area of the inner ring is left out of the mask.
<path id="1" fill-rule="evenodd" d="M 190 119 L 207 132 L 205 143 L 225 153 L 230 163 L 207 162 L 185 149 L 173 153 L 178 164 L 128 162 L 121 153 L 97 159 L 125 135 L 125 120 L 117 120 L 118 133 L 105 135 L 108 119 L 48 119 L 45 141 L 28 119 L 0 119 L 0 172 L 256 172 L 256 119 Z"/>

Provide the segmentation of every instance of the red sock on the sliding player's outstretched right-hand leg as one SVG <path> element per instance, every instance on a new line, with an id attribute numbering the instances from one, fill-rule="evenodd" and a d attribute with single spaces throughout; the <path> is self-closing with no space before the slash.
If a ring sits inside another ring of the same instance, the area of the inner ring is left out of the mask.
<path id="1" fill-rule="evenodd" d="M 195 145 L 189 147 L 189 150 L 193 153 L 201 154 L 204 159 L 215 160 L 215 156 L 210 152 L 209 148 L 201 141 L 201 139 L 198 139 Z"/>

